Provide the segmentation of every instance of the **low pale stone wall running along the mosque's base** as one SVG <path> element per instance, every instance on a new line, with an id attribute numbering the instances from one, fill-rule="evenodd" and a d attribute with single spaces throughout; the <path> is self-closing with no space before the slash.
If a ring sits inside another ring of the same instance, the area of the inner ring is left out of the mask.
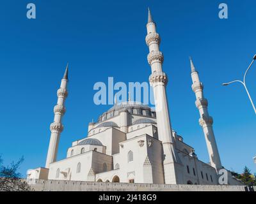
<path id="1" fill-rule="evenodd" d="M 65 180 L 28 180 L 28 182 L 35 191 L 245 191 L 244 186 L 127 184 Z"/>

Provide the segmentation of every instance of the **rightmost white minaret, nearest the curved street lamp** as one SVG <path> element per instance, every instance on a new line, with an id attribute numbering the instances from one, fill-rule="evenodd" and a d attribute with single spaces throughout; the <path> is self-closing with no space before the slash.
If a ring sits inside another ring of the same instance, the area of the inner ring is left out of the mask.
<path id="1" fill-rule="evenodd" d="M 192 59 L 190 58 L 191 64 L 191 78 L 192 78 L 192 89 L 196 95 L 196 107 L 200 113 L 199 123 L 204 130 L 205 141 L 210 157 L 211 166 L 220 170 L 222 168 L 218 147 L 215 141 L 215 136 L 212 129 L 213 119 L 208 113 L 208 101 L 204 98 L 204 85 L 200 82 L 198 72 L 195 69 Z"/>

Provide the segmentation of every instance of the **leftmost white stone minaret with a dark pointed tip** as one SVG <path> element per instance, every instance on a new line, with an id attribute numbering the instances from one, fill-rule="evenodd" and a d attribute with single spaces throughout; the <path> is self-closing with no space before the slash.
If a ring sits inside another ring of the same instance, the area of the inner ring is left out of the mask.
<path id="1" fill-rule="evenodd" d="M 67 82 L 68 82 L 68 65 L 65 70 L 64 76 L 61 80 L 60 89 L 57 91 L 58 102 L 54 106 L 54 122 L 52 122 L 51 129 L 51 138 L 49 143 L 49 149 L 46 159 L 45 168 L 49 168 L 49 165 L 56 161 L 58 145 L 60 141 L 60 133 L 63 131 L 63 124 L 61 119 L 65 114 L 65 99 L 68 96 L 67 92 Z"/>

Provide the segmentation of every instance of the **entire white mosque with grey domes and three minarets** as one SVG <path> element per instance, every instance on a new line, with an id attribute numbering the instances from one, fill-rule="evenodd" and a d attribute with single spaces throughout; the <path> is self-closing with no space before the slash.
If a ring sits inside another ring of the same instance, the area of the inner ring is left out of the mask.
<path id="1" fill-rule="evenodd" d="M 74 180 L 92 182 L 124 182 L 144 184 L 200 184 L 217 185 L 218 171 L 223 169 L 212 129 L 204 86 L 191 61 L 192 89 L 200 113 L 210 163 L 200 161 L 193 147 L 172 130 L 166 85 L 163 72 L 163 54 L 159 51 L 160 37 L 156 23 L 148 10 L 146 43 L 149 77 L 154 90 L 156 109 L 134 101 L 115 103 L 88 125 L 88 136 L 72 142 L 67 157 L 56 161 L 61 119 L 65 113 L 68 67 L 58 89 L 58 103 L 54 106 L 54 122 L 45 168 L 28 171 L 28 179 Z M 227 171 L 228 184 L 241 183 Z"/>

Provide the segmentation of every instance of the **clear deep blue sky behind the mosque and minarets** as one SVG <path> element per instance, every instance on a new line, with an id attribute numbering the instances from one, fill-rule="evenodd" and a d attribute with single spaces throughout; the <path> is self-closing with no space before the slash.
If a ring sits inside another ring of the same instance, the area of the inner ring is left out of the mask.
<path id="1" fill-rule="evenodd" d="M 36 4 L 36 19 L 26 5 Z M 0 6 L 0 154 L 4 163 L 24 156 L 21 173 L 45 165 L 56 91 L 70 64 L 67 112 L 58 159 L 71 142 L 86 136 L 88 122 L 109 106 L 93 103 L 95 82 L 147 82 L 147 7 L 161 35 L 172 126 L 198 157 L 209 161 L 191 91 L 189 55 L 204 82 L 223 166 L 256 172 L 256 115 L 242 78 L 256 54 L 255 1 L 2 1 Z M 256 63 L 247 79 L 256 102 Z M 253 80 L 254 79 L 254 80 Z"/>

